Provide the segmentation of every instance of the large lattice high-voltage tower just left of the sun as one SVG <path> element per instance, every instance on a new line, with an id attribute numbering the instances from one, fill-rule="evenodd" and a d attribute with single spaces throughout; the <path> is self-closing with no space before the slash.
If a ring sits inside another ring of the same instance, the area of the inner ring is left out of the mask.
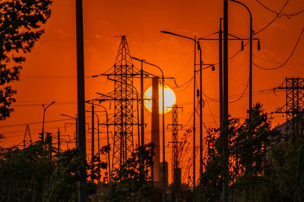
<path id="1" fill-rule="evenodd" d="M 114 66 L 106 71 L 104 76 L 115 82 L 115 90 L 108 94 L 100 94 L 96 99 L 101 101 L 114 100 L 115 113 L 108 125 L 114 125 L 115 135 L 113 140 L 112 171 L 118 169 L 134 152 L 133 146 L 133 126 L 139 126 L 139 117 L 134 116 L 134 101 L 137 100 L 135 108 L 138 106 L 138 93 L 133 86 L 134 72 L 129 46 L 126 36 L 122 36 L 118 54 Z M 114 76 L 114 79 L 110 77 Z M 136 96 L 136 98 L 134 98 Z M 138 111 L 138 110 L 137 110 Z M 139 134 L 139 127 L 138 127 Z"/>

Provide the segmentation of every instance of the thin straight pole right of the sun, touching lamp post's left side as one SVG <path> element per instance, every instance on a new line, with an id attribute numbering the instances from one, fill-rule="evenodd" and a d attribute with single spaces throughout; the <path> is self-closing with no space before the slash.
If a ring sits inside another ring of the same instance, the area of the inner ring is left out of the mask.
<path id="1" fill-rule="evenodd" d="M 196 36 L 194 37 L 194 78 L 193 78 L 193 192 L 195 193 L 195 186 L 196 186 L 196 176 L 195 176 L 195 115 L 196 115 L 196 88 L 195 88 L 195 81 L 196 81 Z"/>

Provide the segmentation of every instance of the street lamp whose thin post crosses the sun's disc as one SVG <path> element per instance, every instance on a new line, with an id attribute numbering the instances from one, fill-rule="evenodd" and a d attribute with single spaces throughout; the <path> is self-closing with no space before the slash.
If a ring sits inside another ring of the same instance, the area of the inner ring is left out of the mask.
<path id="1" fill-rule="evenodd" d="M 154 66 L 154 67 L 157 67 L 159 70 L 161 70 L 162 72 L 162 94 L 163 94 L 163 98 L 162 98 L 162 103 L 163 103 L 163 106 L 162 106 L 162 110 L 163 110 L 163 201 L 166 201 L 166 183 L 165 183 L 165 172 L 166 172 L 166 169 L 165 169 L 165 94 L 164 94 L 164 73 L 163 73 L 163 70 L 157 66 L 157 65 L 154 65 L 154 64 L 151 64 L 151 63 L 148 63 L 144 60 L 140 60 L 138 58 L 134 58 L 134 57 L 131 57 L 132 59 L 134 60 L 137 60 L 137 61 L 140 61 L 142 63 L 145 63 L 145 64 L 148 64 L 148 65 L 151 65 L 151 66 Z"/>

